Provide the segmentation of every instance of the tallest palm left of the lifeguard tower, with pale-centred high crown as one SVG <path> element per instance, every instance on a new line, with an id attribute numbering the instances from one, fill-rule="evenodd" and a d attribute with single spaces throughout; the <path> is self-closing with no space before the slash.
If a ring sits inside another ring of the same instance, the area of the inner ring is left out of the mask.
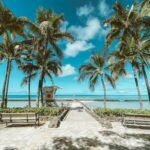
<path id="1" fill-rule="evenodd" d="M 53 53 L 55 53 L 55 55 L 57 55 L 60 59 L 63 57 L 62 51 L 58 47 L 57 42 L 58 40 L 72 40 L 72 36 L 70 33 L 62 32 L 60 30 L 60 25 L 62 22 L 62 15 L 57 16 L 51 10 L 45 10 L 43 8 L 38 9 L 36 23 L 34 25 L 30 24 L 29 29 L 34 39 L 34 47 L 41 54 L 44 53 L 42 55 L 45 55 L 49 48 L 51 48 L 51 50 L 53 50 Z M 40 51 L 41 47 L 43 51 Z M 41 68 L 44 68 L 44 64 Z M 39 90 L 42 90 L 42 80 L 43 75 L 41 73 L 39 81 Z M 42 94 L 41 100 L 43 101 Z M 37 102 L 39 102 L 39 92 L 37 94 Z"/>

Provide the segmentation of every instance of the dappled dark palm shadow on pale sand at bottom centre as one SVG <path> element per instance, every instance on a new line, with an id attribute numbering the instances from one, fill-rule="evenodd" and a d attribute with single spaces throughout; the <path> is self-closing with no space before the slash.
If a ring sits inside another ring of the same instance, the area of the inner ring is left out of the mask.
<path id="1" fill-rule="evenodd" d="M 110 150 L 129 150 L 129 148 L 116 144 L 106 144 L 95 138 L 77 138 L 73 140 L 69 137 L 59 137 L 53 139 L 53 150 L 91 150 L 108 147 Z"/>

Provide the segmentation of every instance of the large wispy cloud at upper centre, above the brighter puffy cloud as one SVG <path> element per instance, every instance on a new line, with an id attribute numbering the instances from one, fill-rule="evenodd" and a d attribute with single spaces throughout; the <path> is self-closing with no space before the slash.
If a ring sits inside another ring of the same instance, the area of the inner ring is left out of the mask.
<path id="1" fill-rule="evenodd" d="M 78 40 L 91 40 L 100 34 L 101 24 L 98 18 L 90 18 L 86 26 L 71 26 L 69 30 L 78 38 Z"/>

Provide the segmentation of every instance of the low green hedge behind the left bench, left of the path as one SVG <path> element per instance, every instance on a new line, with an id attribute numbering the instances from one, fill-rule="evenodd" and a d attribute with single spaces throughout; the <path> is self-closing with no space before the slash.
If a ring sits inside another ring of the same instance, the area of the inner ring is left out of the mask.
<path id="1" fill-rule="evenodd" d="M 41 107 L 41 108 L 0 108 L 0 113 L 38 113 L 41 116 L 58 116 L 63 111 L 60 107 Z"/>

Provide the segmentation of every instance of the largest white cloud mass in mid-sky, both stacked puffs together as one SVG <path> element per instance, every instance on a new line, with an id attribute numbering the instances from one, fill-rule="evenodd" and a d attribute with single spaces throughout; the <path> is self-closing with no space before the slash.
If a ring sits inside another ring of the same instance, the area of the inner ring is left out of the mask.
<path id="1" fill-rule="evenodd" d="M 64 54 L 67 57 L 76 57 L 80 52 L 94 48 L 90 40 L 107 33 L 96 17 L 88 19 L 85 26 L 71 26 L 69 31 L 76 37 L 76 41 L 66 45 Z"/>

